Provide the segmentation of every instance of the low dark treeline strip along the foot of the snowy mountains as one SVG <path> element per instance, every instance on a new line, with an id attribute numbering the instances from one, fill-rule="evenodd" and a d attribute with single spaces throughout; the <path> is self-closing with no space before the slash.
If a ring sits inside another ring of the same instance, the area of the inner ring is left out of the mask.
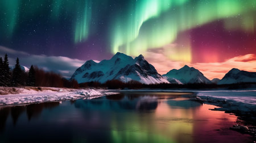
<path id="1" fill-rule="evenodd" d="M 235 83 L 231 85 L 216 85 L 216 84 L 204 84 L 204 83 L 193 83 L 186 85 L 177 85 L 170 83 L 159 83 L 146 85 L 138 81 L 130 81 L 127 83 L 111 80 L 106 83 L 99 82 L 86 82 L 80 83 L 80 87 L 99 87 L 108 89 L 246 89 L 256 87 L 256 83 Z"/>

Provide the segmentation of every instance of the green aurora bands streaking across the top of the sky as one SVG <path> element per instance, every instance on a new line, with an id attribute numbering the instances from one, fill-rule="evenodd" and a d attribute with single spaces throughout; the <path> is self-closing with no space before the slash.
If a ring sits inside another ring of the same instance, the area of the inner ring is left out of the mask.
<path id="1" fill-rule="evenodd" d="M 1 36 L 10 39 L 23 19 L 45 13 L 54 26 L 61 26 L 61 18 L 70 19 L 73 43 L 80 44 L 97 32 L 102 16 L 108 13 L 109 19 L 104 25 L 108 37 L 105 38 L 113 54 L 138 56 L 149 49 L 167 47 L 164 54 L 171 60 L 190 62 L 191 41 L 187 36 L 181 41 L 182 45 L 177 44 L 180 33 L 216 20 L 223 20 L 229 31 L 254 32 L 256 27 L 255 0 L 130 0 L 124 3 L 127 5 L 115 7 L 108 13 L 109 5 L 114 5 L 108 0 L 2 0 Z"/>

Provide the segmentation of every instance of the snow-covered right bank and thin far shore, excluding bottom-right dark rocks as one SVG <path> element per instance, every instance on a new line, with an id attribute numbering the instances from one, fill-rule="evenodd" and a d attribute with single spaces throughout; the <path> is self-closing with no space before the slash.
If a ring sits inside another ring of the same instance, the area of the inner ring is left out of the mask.
<path id="1" fill-rule="evenodd" d="M 249 116 L 256 123 L 256 90 L 116 90 L 117 92 L 191 92 L 197 100 L 206 104 L 213 104 L 221 110 L 236 113 L 238 116 Z"/>

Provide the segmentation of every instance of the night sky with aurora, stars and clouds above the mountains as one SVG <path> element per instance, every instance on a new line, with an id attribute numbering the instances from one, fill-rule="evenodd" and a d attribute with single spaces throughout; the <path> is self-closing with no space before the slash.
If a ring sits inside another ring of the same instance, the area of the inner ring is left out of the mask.
<path id="1" fill-rule="evenodd" d="M 70 77 L 86 60 L 143 54 L 160 74 L 256 71 L 255 0 L 1 0 L 0 56 Z"/>

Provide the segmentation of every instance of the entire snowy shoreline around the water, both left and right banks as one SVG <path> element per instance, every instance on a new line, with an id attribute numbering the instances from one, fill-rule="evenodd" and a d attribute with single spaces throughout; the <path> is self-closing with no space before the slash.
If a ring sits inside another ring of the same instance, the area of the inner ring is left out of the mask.
<path id="1" fill-rule="evenodd" d="M 188 93 L 195 102 L 218 106 L 212 110 L 234 113 L 245 121 L 230 129 L 249 133 L 255 138 L 256 132 L 256 90 L 106 90 L 106 89 L 66 89 L 55 87 L 0 87 L 0 92 L 13 94 L 0 95 L 0 106 L 20 104 L 61 102 L 63 100 L 93 99 L 100 96 L 119 94 L 119 92 L 181 92 Z M 245 127 L 244 125 L 250 125 Z"/>

